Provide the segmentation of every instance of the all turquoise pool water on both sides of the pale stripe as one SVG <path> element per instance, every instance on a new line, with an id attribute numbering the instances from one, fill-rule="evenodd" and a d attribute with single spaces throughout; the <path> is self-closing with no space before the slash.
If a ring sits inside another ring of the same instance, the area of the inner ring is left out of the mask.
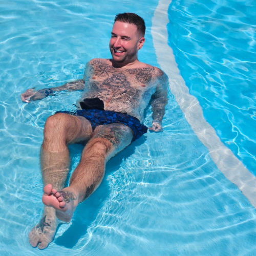
<path id="1" fill-rule="evenodd" d="M 28 243 L 42 213 L 39 150 L 45 120 L 57 110 L 73 108 L 81 93 L 30 104 L 22 103 L 20 94 L 79 79 L 87 61 L 110 57 L 110 31 L 118 12 L 145 18 L 146 44 L 139 59 L 158 66 L 151 35 L 157 5 L 0 3 L 1 255 L 256 254 L 255 208 L 216 167 L 171 94 L 164 133 L 147 133 L 111 159 L 101 186 L 79 205 L 72 223 L 59 228 L 46 250 Z M 181 75 L 206 120 L 253 173 L 255 9 L 246 5 L 251 4 L 175 0 L 167 28 Z M 232 39 L 232 33 L 237 37 Z M 211 44 L 209 34 L 214 37 Z M 145 124 L 151 118 L 148 110 Z M 74 170 L 82 147 L 72 145 L 70 150 Z"/>

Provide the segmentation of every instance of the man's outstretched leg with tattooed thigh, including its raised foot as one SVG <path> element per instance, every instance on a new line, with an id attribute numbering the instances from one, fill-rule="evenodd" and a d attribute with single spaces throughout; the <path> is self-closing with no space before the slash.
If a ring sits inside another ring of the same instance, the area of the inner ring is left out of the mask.
<path id="1" fill-rule="evenodd" d="M 56 216 L 70 221 L 78 203 L 86 200 L 101 183 L 106 161 L 129 145 L 133 131 L 126 125 L 113 123 L 96 127 L 92 139 L 82 152 L 69 187 L 60 191 L 45 186 L 43 202 L 56 209 Z"/>

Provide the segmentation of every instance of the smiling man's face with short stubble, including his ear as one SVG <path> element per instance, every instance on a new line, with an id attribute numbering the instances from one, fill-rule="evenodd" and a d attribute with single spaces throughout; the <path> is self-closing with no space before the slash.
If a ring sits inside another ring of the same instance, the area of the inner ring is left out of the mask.
<path id="1" fill-rule="evenodd" d="M 116 62 L 125 64 L 135 61 L 140 40 L 141 38 L 144 39 L 137 32 L 137 27 L 134 24 L 115 22 L 111 34 L 110 51 L 112 58 Z"/>

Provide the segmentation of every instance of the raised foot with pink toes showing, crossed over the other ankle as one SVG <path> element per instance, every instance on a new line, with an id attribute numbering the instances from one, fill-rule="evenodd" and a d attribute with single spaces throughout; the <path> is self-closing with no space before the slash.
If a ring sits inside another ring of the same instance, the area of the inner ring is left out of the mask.
<path id="1" fill-rule="evenodd" d="M 51 184 L 48 184 L 44 187 L 42 202 L 56 210 L 56 217 L 59 220 L 69 222 L 78 204 L 76 194 L 77 192 L 71 187 L 57 191 L 52 188 Z"/>

